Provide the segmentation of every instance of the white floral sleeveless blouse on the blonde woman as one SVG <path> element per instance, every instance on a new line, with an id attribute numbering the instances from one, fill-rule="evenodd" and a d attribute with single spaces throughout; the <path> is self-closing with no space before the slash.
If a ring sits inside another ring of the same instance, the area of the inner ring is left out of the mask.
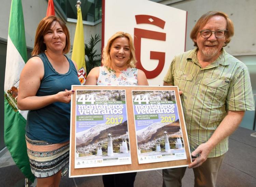
<path id="1" fill-rule="evenodd" d="M 100 66 L 97 85 L 138 85 L 137 74 L 137 68 L 128 67 L 121 71 L 119 77 L 116 77 L 113 69 Z"/>

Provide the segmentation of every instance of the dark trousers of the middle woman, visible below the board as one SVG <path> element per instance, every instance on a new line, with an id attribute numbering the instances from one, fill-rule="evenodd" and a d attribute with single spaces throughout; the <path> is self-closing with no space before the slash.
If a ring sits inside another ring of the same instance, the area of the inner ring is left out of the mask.
<path id="1" fill-rule="evenodd" d="M 133 187 L 137 172 L 102 175 L 104 187 Z"/>

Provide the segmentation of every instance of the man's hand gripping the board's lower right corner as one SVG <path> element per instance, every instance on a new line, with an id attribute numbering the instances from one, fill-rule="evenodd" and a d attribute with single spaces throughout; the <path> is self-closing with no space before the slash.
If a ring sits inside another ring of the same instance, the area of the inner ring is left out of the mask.
<path id="1" fill-rule="evenodd" d="M 207 159 L 208 155 L 210 154 L 212 148 L 207 143 L 202 143 L 197 147 L 195 151 L 191 153 L 191 156 L 195 157 L 199 155 L 197 158 L 192 158 L 192 163 L 188 165 L 188 168 L 196 168 L 201 166 L 202 163 Z"/>

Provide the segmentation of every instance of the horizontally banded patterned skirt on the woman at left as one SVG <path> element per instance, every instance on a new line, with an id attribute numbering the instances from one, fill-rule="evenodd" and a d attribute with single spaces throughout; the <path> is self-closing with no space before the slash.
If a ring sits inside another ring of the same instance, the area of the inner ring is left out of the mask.
<path id="1" fill-rule="evenodd" d="M 49 143 L 26 136 L 26 142 L 31 171 L 35 177 L 52 176 L 69 162 L 69 141 Z"/>

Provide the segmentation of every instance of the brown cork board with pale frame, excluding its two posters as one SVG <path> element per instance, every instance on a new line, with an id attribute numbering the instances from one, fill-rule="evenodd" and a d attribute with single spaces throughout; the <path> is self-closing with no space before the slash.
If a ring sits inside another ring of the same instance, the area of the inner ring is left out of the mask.
<path id="1" fill-rule="evenodd" d="M 73 85 L 72 90 L 75 90 L 71 98 L 71 130 L 70 130 L 70 161 L 69 161 L 69 177 L 82 177 L 82 176 L 94 176 L 114 173 L 128 173 L 138 171 L 149 171 L 156 169 L 166 169 L 175 167 L 186 167 L 191 163 L 191 155 L 188 144 L 186 126 L 181 107 L 181 100 L 178 92 L 178 88 L 173 87 L 154 87 L 154 86 L 89 86 L 89 85 Z M 115 165 L 115 166 L 101 166 L 101 167 L 87 167 L 87 168 L 75 168 L 76 158 L 76 103 L 77 103 L 77 91 L 79 90 L 125 90 L 126 98 L 126 110 L 128 121 L 128 135 L 129 135 L 129 153 L 131 158 L 131 164 Z M 173 91 L 177 112 L 179 113 L 180 129 L 183 137 L 183 147 L 185 151 L 185 158 L 181 160 L 160 161 L 153 163 L 139 163 L 138 161 L 138 144 L 136 136 L 135 118 L 133 112 L 133 99 L 132 91 Z"/>

